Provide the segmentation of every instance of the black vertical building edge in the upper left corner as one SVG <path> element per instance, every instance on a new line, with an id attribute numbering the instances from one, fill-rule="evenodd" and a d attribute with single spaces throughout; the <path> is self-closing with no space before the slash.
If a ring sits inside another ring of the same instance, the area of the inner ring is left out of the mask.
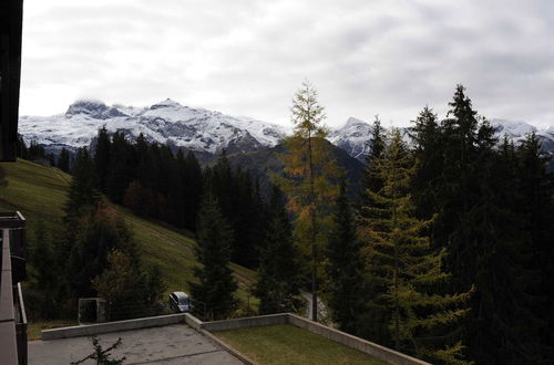
<path id="1" fill-rule="evenodd" d="M 0 1 L 0 161 L 16 159 L 23 0 Z"/>

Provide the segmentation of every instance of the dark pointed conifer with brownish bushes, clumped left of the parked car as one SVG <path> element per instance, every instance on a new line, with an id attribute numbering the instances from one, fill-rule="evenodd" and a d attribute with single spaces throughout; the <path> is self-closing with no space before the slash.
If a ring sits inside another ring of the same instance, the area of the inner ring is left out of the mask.
<path id="1" fill-rule="evenodd" d="M 73 163 L 61 230 L 39 221 L 25 296 L 34 320 L 74 317 L 80 298 L 106 300 L 109 320 L 152 315 L 166 286 L 147 267 L 123 219 L 102 200 L 86 149 Z"/>

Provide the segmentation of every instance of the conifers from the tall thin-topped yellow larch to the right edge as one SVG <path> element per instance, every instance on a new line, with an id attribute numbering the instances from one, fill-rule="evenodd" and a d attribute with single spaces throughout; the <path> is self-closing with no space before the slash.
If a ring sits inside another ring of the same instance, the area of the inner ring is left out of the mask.
<path id="1" fill-rule="evenodd" d="M 463 86 L 449 107 L 443 119 L 423 108 L 410 144 L 376 119 L 361 204 L 352 207 L 345 185 L 332 184 L 322 107 L 305 85 L 295 95 L 285 176 L 276 177 L 295 218 L 300 254 L 290 263 L 311 277 L 331 323 L 349 333 L 433 363 L 547 364 L 550 158 L 534 134 L 519 145 L 497 140 Z M 260 270 L 258 285 L 273 280 L 295 293 L 278 272 Z M 269 312 L 285 306 L 280 298 Z"/>

